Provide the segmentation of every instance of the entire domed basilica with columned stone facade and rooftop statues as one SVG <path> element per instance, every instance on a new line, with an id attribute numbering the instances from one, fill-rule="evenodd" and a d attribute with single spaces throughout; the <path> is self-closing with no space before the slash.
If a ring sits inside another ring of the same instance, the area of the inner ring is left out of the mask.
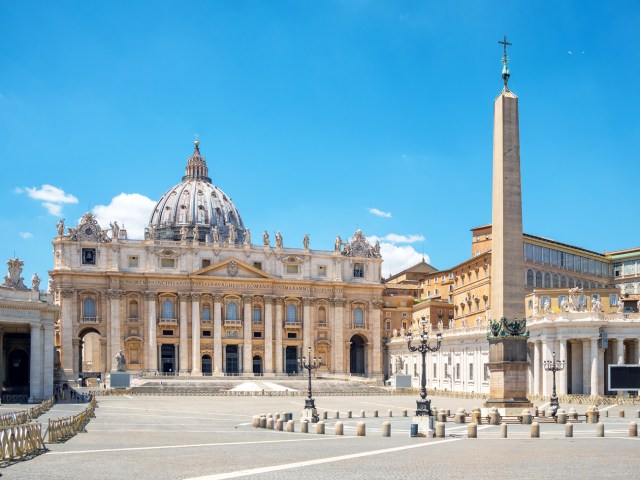
<path id="1" fill-rule="evenodd" d="M 198 142 L 143 240 L 91 213 L 53 241 L 58 379 L 105 378 L 120 351 L 141 374 L 381 376 L 379 245 L 361 231 L 330 251 L 251 239 L 208 176 Z"/>

